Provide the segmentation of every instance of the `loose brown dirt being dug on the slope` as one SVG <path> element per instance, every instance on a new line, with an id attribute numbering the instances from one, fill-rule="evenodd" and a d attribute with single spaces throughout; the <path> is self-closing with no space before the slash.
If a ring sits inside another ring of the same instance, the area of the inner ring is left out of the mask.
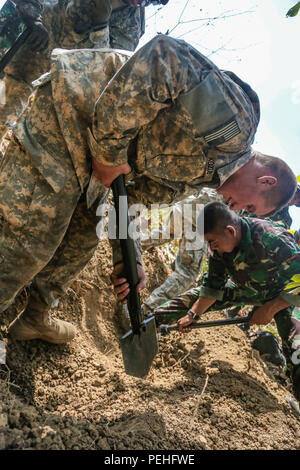
<path id="1" fill-rule="evenodd" d="M 103 242 L 53 312 L 77 326 L 70 344 L 6 338 L 25 291 L 2 315 L 0 449 L 299 450 L 291 393 L 237 326 L 172 333 L 146 379 L 124 373 L 110 259 Z M 164 261 L 160 248 L 144 255 L 147 292 L 170 272 Z"/>

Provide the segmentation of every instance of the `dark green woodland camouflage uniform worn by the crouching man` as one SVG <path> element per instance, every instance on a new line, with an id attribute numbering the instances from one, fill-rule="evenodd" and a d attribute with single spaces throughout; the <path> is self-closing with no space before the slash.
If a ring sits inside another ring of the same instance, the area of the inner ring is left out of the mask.
<path id="1" fill-rule="evenodd" d="M 209 310 L 223 310 L 263 305 L 280 296 L 291 306 L 274 319 L 300 400 L 300 321 L 292 315 L 293 307 L 300 306 L 300 249 L 292 234 L 275 223 L 245 217 L 241 224 L 240 246 L 222 255 L 214 251 L 202 285 L 161 305 L 155 314 L 159 322 L 178 320 L 199 297 L 217 299 Z"/>

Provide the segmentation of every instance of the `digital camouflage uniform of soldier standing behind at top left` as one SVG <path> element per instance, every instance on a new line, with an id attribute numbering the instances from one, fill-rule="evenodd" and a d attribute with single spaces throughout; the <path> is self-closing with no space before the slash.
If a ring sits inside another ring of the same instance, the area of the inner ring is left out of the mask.
<path id="1" fill-rule="evenodd" d="M 20 0 L 21 3 L 24 3 L 24 8 L 29 5 L 25 0 Z M 30 46 L 25 44 L 5 68 L 5 102 L 0 104 L 0 136 L 4 134 L 6 125 L 13 123 L 24 109 L 33 90 L 32 81 L 49 71 L 50 54 L 55 47 L 117 47 L 133 51 L 144 31 L 141 8 L 119 8 L 112 12 L 108 26 L 93 31 L 91 3 L 94 4 L 93 8 L 101 9 L 103 0 L 33 0 L 32 3 L 43 3 L 43 24 L 49 31 L 50 43 L 48 49 L 40 53 L 32 52 Z M 40 15 L 41 9 L 41 6 L 36 8 L 36 15 Z"/>

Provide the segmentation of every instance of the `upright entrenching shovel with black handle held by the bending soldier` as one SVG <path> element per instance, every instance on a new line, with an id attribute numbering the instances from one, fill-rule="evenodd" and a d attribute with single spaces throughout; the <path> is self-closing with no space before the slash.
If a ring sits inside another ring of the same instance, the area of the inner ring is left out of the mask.
<path id="1" fill-rule="evenodd" d="M 148 374 L 158 351 L 156 325 L 154 316 L 144 318 L 140 296 L 136 292 L 139 278 L 134 242 L 128 232 L 130 220 L 123 175 L 118 176 L 113 181 L 112 191 L 116 207 L 118 238 L 121 244 L 124 272 L 130 288 L 127 305 L 132 329 L 121 338 L 123 362 L 125 372 L 128 375 L 142 378 Z"/>

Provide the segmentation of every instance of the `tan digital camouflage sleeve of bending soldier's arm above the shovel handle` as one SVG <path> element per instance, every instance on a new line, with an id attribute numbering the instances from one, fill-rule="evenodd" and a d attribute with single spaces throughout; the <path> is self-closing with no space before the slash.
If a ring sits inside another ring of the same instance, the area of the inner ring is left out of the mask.
<path id="1" fill-rule="evenodd" d="M 199 59 L 184 41 L 158 35 L 139 49 L 96 102 L 89 146 L 107 166 L 127 162 L 127 149 L 142 126 L 200 81 Z"/>

